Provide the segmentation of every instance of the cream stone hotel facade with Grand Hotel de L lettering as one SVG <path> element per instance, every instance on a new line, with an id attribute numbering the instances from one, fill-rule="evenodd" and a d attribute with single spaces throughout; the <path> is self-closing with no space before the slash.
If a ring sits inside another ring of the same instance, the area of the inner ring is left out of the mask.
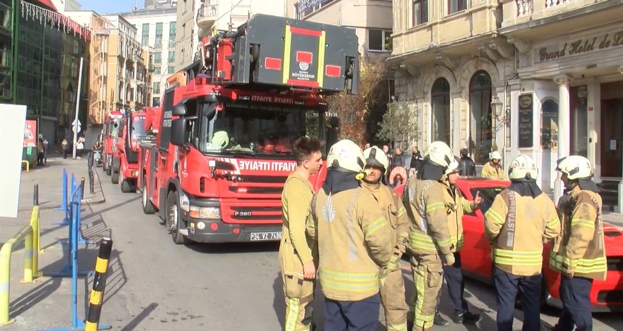
<path id="1" fill-rule="evenodd" d="M 554 198 L 556 160 L 583 155 L 609 183 L 604 204 L 623 203 L 623 1 L 398 3 L 389 62 L 396 97 L 419 110 L 421 148 L 442 140 L 477 165 L 525 153 Z"/>

